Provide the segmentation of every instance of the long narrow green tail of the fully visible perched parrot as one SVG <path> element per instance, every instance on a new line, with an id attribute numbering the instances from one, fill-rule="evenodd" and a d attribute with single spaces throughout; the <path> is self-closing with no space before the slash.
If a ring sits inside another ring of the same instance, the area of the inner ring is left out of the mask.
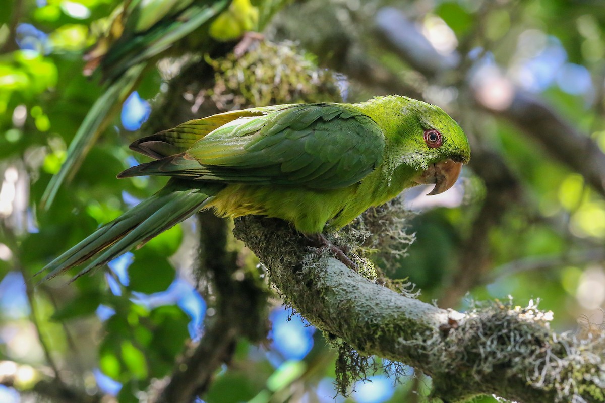
<path id="1" fill-rule="evenodd" d="M 151 198 L 103 225 L 76 246 L 48 263 L 36 273 L 36 276 L 50 271 L 44 280 L 52 279 L 97 256 L 72 279 L 73 281 L 201 210 L 223 187 L 222 184 L 204 184 L 203 189 L 192 189 L 191 182 L 172 179 Z"/>

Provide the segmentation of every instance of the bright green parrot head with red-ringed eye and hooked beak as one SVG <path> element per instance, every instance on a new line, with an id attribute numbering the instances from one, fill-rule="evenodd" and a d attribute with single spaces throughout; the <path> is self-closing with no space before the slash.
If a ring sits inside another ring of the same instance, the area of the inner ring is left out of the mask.
<path id="1" fill-rule="evenodd" d="M 417 171 L 414 182 L 435 185 L 427 196 L 439 195 L 456 183 L 462 165 L 471 159 L 468 139 L 438 106 L 413 100 L 404 109 L 407 129 L 401 161 Z"/>

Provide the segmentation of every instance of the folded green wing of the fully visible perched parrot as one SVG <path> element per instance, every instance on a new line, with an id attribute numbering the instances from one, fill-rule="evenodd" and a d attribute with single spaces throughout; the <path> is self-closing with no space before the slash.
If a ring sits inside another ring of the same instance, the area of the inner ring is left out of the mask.
<path id="1" fill-rule="evenodd" d="M 336 189 L 361 181 L 381 163 L 384 134 L 361 111 L 338 104 L 282 108 L 238 118 L 200 138 L 186 152 L 133 167 L 120 177 L 167 175 Z"/>

